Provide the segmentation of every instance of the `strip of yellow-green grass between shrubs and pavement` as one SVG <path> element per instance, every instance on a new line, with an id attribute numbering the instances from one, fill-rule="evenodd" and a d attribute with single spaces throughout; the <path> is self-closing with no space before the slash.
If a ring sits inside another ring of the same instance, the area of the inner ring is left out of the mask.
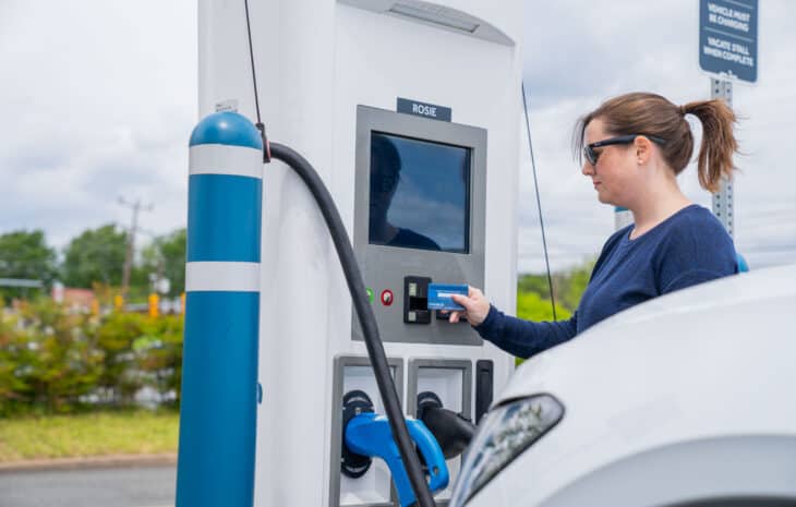
<path id="1" fill-rule="evenodd" d="M 177 412 L 0 419 L 0 462 L 177 451 Z"/>

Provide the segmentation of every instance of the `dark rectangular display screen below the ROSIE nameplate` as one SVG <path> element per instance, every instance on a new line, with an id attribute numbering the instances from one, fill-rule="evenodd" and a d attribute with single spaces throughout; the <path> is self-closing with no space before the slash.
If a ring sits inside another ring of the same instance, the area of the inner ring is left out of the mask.
<path id="1" fill-rule="evenodd" d="M 470 252 L 470 148 L 371 134 L 371 244 Z"/>

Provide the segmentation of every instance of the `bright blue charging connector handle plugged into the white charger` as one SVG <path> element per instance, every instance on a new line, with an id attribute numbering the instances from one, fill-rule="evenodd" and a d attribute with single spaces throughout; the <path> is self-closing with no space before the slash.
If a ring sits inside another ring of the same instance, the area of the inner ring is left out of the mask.
<path id="1" fill-rule="evenodd" d="M 429 488 L 432 492 L 444 490 L 450 476 L 443 449 L 422 421 L 407 419 L 407 427 L 427 466 Z M 351 419 L 346 426 L 346 445 L 358 455 L 382 458 L 393 473 L 401 507 L 414 504 L 414 492 L 386 417 L 367 412 Z"/>

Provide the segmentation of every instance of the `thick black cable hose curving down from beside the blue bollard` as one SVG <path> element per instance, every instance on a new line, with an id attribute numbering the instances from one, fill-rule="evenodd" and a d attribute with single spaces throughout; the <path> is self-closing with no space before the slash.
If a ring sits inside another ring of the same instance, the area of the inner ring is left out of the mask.
<path id="1" fill-rule="evenodd" d="M 436 507 L 434 497 L 425 482 L 420 459 L 414 451 L 414 444 L 409 437 L 407 423 L 403 420 L 400 401 L 398 400 L 398 393 L 393 383 L 393 377 L 389 375 L 389 364 L 387 363 L 387 355 L 384 352 L 384 345 L 378 336 L 376 317 L 373 314 L 373 309 L 371 307 L 370 299 L 365 291 L 365 283 L 359 270 L 351 241 L 348 238 L 346 226 L 343 226 L 342 219 L 340 219 L 340 214 L 331 198 L 331 194 L 329 194 L 329 191 L 312 165 L 296 150 L 282 144 L 270 143 L 270 156 L 272 158 L 284 161 L 299 174 L 309 188 L 310 193 L 315 197 L 321 214 L 326 220 L 331 240 L 337 250 L 337 255 L 340 257 L 340 264 L 346 276 L 346 281 L 348 282 L 348 289 L 351 292 L 357 316 L 362 326 L 367 355 L 371 358 L 373 373 L 376 376 L 376 384 L 378 384 L 378 393 L 384 401 L 384 409 L 389 420 L 390 428 L 393 430 L 393 436 L 398 444 L 398 450 L 407 469 L 409 482 L 412 484 L 412 490 L 414 490 L 418 505 L 420 507 Z"/>

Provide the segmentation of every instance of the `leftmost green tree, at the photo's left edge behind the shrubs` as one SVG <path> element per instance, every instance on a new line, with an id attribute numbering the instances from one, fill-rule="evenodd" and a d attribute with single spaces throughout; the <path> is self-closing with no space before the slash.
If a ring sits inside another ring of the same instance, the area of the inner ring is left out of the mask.
<path id="1" fill-rule="evenodd" d="M 0 236 L 0 278 L 41 280 L 49 287 L 56 277 L 56 251 L 47 245 L 40 230 L 13 231 Z M 7 301 L 25 297 L 29 289 L 0 288 Z"/>

